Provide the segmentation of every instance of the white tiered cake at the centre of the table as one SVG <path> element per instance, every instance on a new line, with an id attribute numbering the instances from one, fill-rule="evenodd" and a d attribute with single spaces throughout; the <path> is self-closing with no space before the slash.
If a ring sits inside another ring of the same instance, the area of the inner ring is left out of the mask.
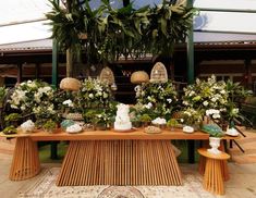
<path id="1" fill-rule="evenodd" d="M 117 116 L 114 121 L 114 129 L 127 131 L 132 128 L 132 123 L 129 116 L 129 106 L 120 103 L 118 104 Z"/>

